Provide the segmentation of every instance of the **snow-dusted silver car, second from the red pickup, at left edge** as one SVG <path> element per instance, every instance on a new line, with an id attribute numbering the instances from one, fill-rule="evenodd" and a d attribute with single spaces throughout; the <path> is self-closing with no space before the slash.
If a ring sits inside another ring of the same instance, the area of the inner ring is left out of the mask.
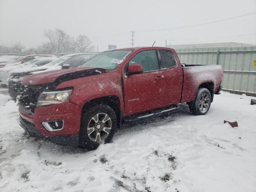
<path id="1" fill-rule="evenodd" d="M 43 65 L 48 64 L 49 62 L 52 62 L 56 59 L 57 59 L 57 57 L 39 58 L 39 59 L 33 59 L 30 61 L 27 61 L 23 64 L 14 65 L 14 66 L 6 66 L 3 68 L 0 68 L 0 84 L 2 84 L 2 85 L 7 84 L 7 79 L 13 70 L 18 70 L 18 69 L 31 70 L 34 67 L 43 66 Z"/>

